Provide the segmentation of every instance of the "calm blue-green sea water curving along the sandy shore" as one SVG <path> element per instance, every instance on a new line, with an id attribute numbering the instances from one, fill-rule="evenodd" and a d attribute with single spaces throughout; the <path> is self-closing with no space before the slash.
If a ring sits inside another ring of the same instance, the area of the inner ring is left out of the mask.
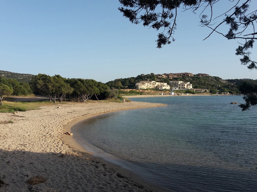
<path id="1" fill-rule="evenodd" d="M 168 106 L 89 119 L 75 128 L 80 140 L 176 191 L 257 190 L 257 108 L 242 112 L 230 104 L 243 103 L 242 96 L 131 100 Z"/>

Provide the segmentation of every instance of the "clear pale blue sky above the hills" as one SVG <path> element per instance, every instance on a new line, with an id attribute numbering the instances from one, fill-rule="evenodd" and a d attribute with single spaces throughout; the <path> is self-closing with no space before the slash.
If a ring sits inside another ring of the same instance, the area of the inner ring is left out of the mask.
<path id="1" fill-rule="evenodd" d="M 228 8 L 222 3 L 216 10 Z M 257 1 L 251 6 L 256 8 Z M 257 79 L 257 70 L 241 65 L 235 55 L 238 40 L 212 34 L 203 41 L 211 31 L 199 26 L 199 14 L 180 10 L 175 42 L 158 49 L 159 32 L 132 24 L 118 7 L 118 0 L 1 0 L 0 70 L 103 83 L 184 72 Z M 252 59 L 256 50 L 251 50 Z"/>

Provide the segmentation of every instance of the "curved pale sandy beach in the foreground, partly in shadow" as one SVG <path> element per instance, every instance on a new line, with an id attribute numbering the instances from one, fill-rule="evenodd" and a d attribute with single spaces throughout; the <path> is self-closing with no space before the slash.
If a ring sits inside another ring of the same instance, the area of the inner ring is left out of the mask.
<path id="1" fill-rule="evenodd" d="M 168 191 L 85 153 L 73 136 L 64 134 L 91 115 L 160 105 L 62 102 L 17 114 L 0 113 L 0 191 Z M 45 182 L 26 183 L 33 176 Z"/>

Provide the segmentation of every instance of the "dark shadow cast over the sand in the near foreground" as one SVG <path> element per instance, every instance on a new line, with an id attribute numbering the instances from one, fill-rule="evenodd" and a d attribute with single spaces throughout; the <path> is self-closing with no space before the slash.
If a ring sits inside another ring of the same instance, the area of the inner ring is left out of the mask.
<path id="1" fill-rule="evenodd" d="M 0 191 L 151 191 L 82 155 L 0 149 L 0 167 Z M 26 183 L 33 176 L 46 181 Z"/>

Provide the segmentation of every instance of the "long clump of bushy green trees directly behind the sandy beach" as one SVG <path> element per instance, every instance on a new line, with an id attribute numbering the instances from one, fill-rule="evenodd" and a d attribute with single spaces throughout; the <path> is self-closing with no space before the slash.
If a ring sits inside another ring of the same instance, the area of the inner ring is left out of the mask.
<path id="1" fill-rule="evenodd" d="M 66 79 L 60 75 L 51 77 L 45 74 L 36 75 L 31 86 L 34 92 L 47 96 L 53 102 L 56 99 L 59 102 L 63 99 L 85 102 L 91 97 L 105 99 L 109 89 L 107 85 L 93 79 Z"/>

